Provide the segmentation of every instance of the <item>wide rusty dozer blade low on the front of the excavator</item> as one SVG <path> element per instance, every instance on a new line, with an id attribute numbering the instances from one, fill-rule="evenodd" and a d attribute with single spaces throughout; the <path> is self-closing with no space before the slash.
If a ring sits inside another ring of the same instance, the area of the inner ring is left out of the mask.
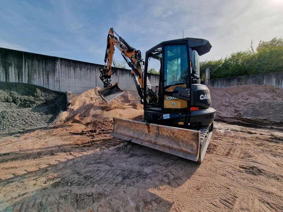
<path id="1" fill-rule="evenodd" d="M 193 161 L 202 162 L 210 140 L 208 138 L 204 147 L 200 145 L 204 144 L 200 138 L 201 130 L 188 130 L 115 117 L 113 120 L 112 136 Z"/>

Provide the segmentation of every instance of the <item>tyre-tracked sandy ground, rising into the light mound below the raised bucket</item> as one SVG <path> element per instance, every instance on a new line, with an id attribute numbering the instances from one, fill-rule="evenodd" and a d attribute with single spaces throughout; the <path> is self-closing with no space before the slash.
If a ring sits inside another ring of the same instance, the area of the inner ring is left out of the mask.
<path id="1" fill-rule="evenodd" d="M 96 95 L 56 126 L 0 134 L 0 211 L 283 211 L 283 127 L 215 122 L 198 164 L 111 137 L 112 117 L 143 110 Z"/>

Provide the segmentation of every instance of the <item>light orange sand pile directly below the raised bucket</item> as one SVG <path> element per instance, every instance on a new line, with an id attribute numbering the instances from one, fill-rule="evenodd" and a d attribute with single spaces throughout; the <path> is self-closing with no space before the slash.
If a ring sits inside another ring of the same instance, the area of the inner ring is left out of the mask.
<path id="1" fill-rule="evenodd" d="M 123 95 L 107 103 L 98 95 L 99 87 L 87 90 L 72 99 L 72 107 L 65 120 L 72 123 L 90 125 L 97 120 L 112 121 L 113 117 L 131 119 L 143 113 L 136 91 L 126 91 Z M 103 124 L 103 123 L 101 123 Z"/>

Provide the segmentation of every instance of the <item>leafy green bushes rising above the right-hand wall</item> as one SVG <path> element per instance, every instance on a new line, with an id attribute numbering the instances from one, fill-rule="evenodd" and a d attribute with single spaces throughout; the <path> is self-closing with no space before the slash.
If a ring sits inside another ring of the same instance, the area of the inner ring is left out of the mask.
<path id="1" fill-rule="evenodd" d="M 210 79 L 283 71 L 283 40 L 275 37 L 267 42 L 260 41 L 256 51 L 251 42 L 251 47 L 246 51 L 232 53 L 224 59 L 201 61 L 202 79 L 208 66 Z"/>

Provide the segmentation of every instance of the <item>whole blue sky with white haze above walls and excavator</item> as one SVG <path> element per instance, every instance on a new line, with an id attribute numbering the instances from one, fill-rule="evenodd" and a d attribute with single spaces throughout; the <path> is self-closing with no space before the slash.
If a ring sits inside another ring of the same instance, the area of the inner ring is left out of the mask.
<path id="1" fill-rule="evenodd" d="M 134 48 L 185 37 L 208 39 L 218 59 L 251 40 L 283 38 L 283 0 L 4 1 L 0 47 L 103 64 L 110 27 Z M 116 51 L 115 59 L 122 60 Z"/>

